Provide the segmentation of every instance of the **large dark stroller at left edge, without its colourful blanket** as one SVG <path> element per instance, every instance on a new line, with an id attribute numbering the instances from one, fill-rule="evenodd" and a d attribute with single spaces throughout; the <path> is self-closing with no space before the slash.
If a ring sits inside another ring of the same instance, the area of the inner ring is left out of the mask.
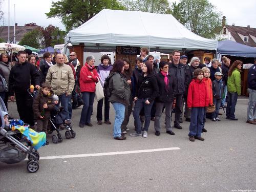
<path id="1" fill-rule="evenodd" d="M 7 112 L 2 98 L 0 98 L 0 161 L 7 164 L 23 161 L 28 155 L 27 170 L 35 173 L 39 169 L 39 153 L 32 146 L 30 140 L 24 137 L 18 130 L 6 130 L 2 111 Z M 26 127 L 28 130 L 28 127 Z"/>

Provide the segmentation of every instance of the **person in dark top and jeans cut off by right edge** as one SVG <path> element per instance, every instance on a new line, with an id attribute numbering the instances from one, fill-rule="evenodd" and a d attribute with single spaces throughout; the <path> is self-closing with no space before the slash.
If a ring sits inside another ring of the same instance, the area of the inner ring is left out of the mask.
<path id="1" fill-rule="evenodd" d="M 254 58 L 254 65 L 249 69 L 247 82 L 249 102 L 246 122 L 256 124 L 256 57 Z"/>

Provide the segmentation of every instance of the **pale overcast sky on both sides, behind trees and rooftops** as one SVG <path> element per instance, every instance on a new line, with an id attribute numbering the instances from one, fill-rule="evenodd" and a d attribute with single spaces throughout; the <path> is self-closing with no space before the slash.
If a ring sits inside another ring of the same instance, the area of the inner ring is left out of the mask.
<path id="1" fill-rule="evenodd" d="M 8 0 L 3 0 L 2 9 L 4 11 L 4 25 L 8 26 Z M 75 0 L 74 0 L 75 1 Z M 255 0 L 209 0 L 217 6 L 217 10 L 226 16 L 227 24 L 236 26 L 256 28 L 256 1 Z M 59 18 L 48 19 L 45 13 L 50 11 L 52 0 L 10 0 L 10 26 L 14 25 L 14 4 L 16 10 L 16 20 L 18 26 L 24 26 L 26 23 L 36 23 L 39 26 L 53 25 L 65 30 Z M 57 0 L 53 0 L 57 2 Z M 174 2 L 169 0 L 169 2 Z M 178 1 L 177 1 L 178 2 Z M 207 14 L 207 13 L 205 13 Z M 0 21 L 1 26 L 3 20 Z"/>

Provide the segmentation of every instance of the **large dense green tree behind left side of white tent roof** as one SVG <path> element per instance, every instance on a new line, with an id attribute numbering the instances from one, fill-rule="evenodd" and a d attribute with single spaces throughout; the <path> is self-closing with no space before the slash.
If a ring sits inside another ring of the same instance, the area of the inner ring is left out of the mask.
<path id="1" fill-rule="evenodd" d="M 46 15 L 48 18 L 61 18 L 67 31 L 87 22 L 104 8 L 125 9 L 117 0 L 59 0 L 58 2 L 52 2 L 51 7 L 50 12 Z"/>

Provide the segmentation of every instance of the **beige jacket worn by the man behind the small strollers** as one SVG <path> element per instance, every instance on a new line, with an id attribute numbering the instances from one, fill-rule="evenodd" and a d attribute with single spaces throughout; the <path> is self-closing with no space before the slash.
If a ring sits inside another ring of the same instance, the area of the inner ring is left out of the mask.
<path id="1" fill-rule="evenodd" d="M 55 64 L 50 67 L 46 76 L 46 82 L 51 84 L 56 95 L 72 93 L 75 85 L 72 68 L 66 64 Z"/>

